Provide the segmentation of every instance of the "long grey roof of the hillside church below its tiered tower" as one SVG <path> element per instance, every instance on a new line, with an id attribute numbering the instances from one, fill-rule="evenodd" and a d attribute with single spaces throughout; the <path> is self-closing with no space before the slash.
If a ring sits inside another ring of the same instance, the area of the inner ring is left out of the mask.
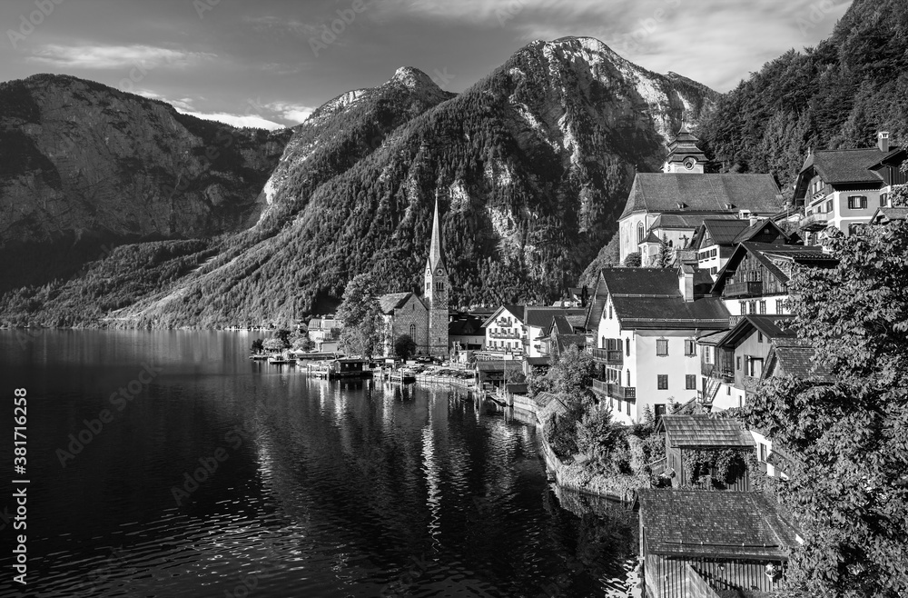
<path id="1" fill-rule="evenodd" d="M 619 219 L 634 212 L 775 214 L 781 206 L 772 174 L 637 173 Z"/>

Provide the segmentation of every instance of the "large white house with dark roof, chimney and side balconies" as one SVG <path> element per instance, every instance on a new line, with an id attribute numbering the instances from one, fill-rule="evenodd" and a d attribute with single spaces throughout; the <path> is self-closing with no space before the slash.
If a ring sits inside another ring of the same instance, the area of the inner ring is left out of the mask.
<path id="1" fill-rule="evenodd" d="M 725 304 L 709 296 L 712 278 L 690 265 L 606 268 L 585 327 L 597 365 L 593 391 L 617 422 L 666 413 L 670 401 L 701 390 L 697 337 L 728 327 Z"/>

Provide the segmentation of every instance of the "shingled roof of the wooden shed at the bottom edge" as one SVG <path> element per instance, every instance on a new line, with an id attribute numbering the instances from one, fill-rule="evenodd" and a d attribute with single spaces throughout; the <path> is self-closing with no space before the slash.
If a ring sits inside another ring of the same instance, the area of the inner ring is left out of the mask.
<path id="1" fill-rule="evenodd" d="M 795 528 L 763 493 L 641 490 L 646 553 L 786 561 Z"/>

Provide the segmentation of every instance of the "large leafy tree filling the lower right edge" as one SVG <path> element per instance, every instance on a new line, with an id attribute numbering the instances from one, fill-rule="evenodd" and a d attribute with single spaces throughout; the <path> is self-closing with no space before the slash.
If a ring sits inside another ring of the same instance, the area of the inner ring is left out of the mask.
<path id="1" fill-rule="evenodd" d="M 801 527 L 788 585 L 799 595 L 908 593 L 908 224 L 826 244 L 839 264 L 795 269 L 793 326 L 814 374 L 772 379 L 745 408 L 791 455 L 781 503 Z"/>

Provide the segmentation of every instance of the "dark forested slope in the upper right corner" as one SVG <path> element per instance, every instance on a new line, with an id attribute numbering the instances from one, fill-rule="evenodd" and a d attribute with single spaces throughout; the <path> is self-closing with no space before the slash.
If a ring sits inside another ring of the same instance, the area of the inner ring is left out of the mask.
<path id="1" fill-rule="evenodd" d="M 698 135 L 725 171 L 775 174 L 791 195 L 810 148 L 867 147 L 878 131 L 908 143 L 906 98 L 904 0 L 854 0 L 828 39 L 723 95 Z"/>

